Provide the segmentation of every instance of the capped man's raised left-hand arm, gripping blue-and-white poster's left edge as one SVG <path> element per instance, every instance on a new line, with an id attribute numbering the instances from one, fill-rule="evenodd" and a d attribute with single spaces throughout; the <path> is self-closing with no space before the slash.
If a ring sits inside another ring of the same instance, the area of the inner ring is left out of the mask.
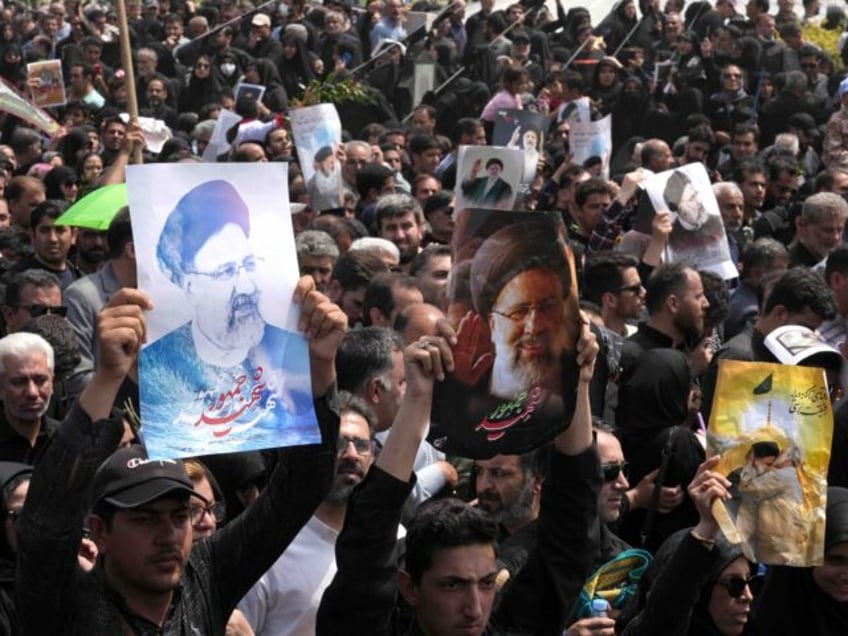
<path id="1" fill-rule="evenodd" d="M 17 522 L 17 604 L 25 634 L 57 634 L 75 607 L 77 552 L 94 473 L 123 435 L 107 420 L 112 404 L 144 341 L 142 309 L 150 300 L 121 290 L 100 313 L 97 372 L 80 395 L 32 476 Z M 84 611 L 84 610 L 83 610 Z"/>

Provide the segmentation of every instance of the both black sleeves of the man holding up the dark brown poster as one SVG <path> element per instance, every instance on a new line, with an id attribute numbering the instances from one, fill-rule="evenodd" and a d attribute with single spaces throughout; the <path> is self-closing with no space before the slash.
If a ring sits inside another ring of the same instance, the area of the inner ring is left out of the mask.
<path id="1" fill-rule="evenodd" d="M 354 491 L 336 542 L 338 572 L 318 609 L 319 636 L 417 633 L 414 624 L 393 623 L 397 526 L 413 484 L 414 476 L 401 482 L 375 466 Z M 573 457 L 553 453 L 542 486 L 538 549 L 503 590 L 487 633 L 562 633 L 597 547 L 599 490 L 594 449 Z"/>

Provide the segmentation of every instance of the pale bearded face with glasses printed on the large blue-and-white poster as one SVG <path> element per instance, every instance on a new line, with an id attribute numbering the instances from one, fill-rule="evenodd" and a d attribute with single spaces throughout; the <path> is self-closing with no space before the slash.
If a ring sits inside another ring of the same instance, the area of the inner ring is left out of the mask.
<path id="1" fill-rule="evenodd" d="M 184 288 L 194 310 L 194 326 L 225 351 L 250 349 L 262 340 L 254 280 L 256 257 L 242 229 L 230 223 L 213 234 L 194 256 Z"/>

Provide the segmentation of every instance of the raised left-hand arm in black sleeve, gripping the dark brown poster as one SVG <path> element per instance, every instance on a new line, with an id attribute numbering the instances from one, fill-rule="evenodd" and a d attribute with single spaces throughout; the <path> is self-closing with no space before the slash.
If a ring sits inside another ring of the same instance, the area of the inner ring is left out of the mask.
<path id="1" fill-rule="evenodd" d="M 318 608 L 316 633 L 390 634 L 397 598 L 394 549 L 412 466 L 430 421 L 433 379 L 453 369 L 447 341 L 425 337 L 404 350 L 407 389 L 376 464 L 354 490 L 336 542 L 333 582 Z"/>

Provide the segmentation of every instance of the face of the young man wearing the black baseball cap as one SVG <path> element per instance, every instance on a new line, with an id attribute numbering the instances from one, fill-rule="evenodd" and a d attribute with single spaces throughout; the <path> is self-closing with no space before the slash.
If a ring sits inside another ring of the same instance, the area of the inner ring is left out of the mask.
<path id="1" fill-rule="evenodd" d="M 185 497 L 166 497 L 118 510 L 111 527 L 95 517 L 92 532 L 112 586 L 134 597 L 170 594 L 179 585 L 192 544 L 191 513 Z"/>

